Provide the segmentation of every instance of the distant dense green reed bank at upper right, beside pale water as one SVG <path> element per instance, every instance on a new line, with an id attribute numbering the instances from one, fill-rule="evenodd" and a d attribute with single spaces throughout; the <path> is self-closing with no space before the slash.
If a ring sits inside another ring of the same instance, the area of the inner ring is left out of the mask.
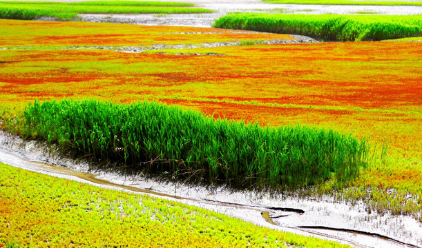
<path id="1" fill-rule="evenodd" d="M 325 41 L 381 41 L 422 36 L 422 18 L 339 14 L 229 14 L 215 28 L 300 34 Z"/>

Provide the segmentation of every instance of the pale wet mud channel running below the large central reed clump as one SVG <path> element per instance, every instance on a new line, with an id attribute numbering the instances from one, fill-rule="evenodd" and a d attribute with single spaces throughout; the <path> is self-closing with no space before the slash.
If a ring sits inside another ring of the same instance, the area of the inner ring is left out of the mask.
<path id="1" fill-rule="evenodd" d="M 367 211 L 333 197 L 276 197 L 224 188 L 163 183 L 142 175 L 122 176 L 93 169 L 85 161 L 58 156 L 54 148 L 0 131 L 0 162 L 42 174 L 175 200 L 250 223 L 353 247 L 422 247 L 422 225 L 409 216 Z"/>

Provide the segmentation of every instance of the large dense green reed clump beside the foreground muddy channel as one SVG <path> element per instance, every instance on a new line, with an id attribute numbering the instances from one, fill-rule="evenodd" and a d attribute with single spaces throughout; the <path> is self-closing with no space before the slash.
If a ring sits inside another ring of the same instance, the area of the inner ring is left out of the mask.
<path id="1" fill-rule="evenodd" d="M 366 141 L 310 127 L 215 120 L 160 103 L 46 101 L 28 105 L 24 136 L 58 142 L 96 160 L 231 187 L 295 189 L 357 176 Z"/>

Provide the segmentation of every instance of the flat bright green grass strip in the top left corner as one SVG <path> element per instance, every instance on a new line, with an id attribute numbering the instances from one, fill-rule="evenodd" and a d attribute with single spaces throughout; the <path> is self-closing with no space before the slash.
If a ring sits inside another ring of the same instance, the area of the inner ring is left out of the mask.
<path id="1" fill-rule="evenodd" d="M 157 1 L 85 1 L 75 3 L 0 1 L 0 18 L 32 20 L 55 17 L 70 20 L 77 14 L 185 14 L 208 13 L 212 10 L 190 8 L 189 3 Z"/>

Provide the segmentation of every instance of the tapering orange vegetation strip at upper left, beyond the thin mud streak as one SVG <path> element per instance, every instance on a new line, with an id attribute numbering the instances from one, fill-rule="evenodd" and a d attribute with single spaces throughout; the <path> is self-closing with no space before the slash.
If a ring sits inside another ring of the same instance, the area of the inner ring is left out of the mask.
<path id="1" fill-rule="evenodd" d="M 257 39 L 294 39 L 217 28 L 142 26 L 115 23 L 0 20 L 0 46 L 153 45 L 213 43 Z"/>

